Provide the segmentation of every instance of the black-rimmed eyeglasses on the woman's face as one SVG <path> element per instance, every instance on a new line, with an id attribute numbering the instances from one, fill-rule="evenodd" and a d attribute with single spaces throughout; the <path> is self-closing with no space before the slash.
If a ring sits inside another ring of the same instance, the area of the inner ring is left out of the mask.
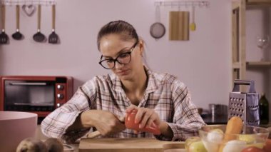
<path id="1" fill-rule="evenodd" d="M 131 61 L 131 53 L 132 51 L 136 48 L 136 45 L 138 44 L 138 41 L 136 41 L 135 44 L 133 44 L 133 46 L 131 47 L 130 51 L 125 52 L 123 54 L 119 54 L 116 59 L 103 59 L 103 55 L 101 56 L 101 61 L 99 62 L 99 64 L 101 64 L 101 66 L 103 66 L 104 69 L 113 69 L 115 68 L 116 65 L 116 61 L 118 62 L 118 64 L 129 64 Z"/>

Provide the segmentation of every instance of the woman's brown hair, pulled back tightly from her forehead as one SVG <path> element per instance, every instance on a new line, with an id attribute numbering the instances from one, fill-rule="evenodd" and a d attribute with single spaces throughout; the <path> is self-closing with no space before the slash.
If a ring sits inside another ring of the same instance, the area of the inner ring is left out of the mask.
<path id="1" fill-rule="evenodd" d="M 97 46 L 98 50 L 100 50 L 100 42 L 103 36 L 108 34 L 120 34 L 121 39 L 124 41 L 136 39 L 138 41 L 138 34 L 136 33 L 136 29 L 133 28 L 131 24 L 126 21 L 111 21 L 108 24 L 104 25 L 97 36 Z"/>

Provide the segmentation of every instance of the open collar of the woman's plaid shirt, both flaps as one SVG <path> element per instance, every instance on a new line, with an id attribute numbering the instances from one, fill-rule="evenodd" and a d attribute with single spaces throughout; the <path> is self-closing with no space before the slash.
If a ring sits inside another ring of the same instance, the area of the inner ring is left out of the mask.
<path id="1" fill-rule="evenodd" d="M 148 69 L 147 66 L 144 65 L 145 73 L 148 75 L 148 86 L 145 90 L 145 93 L 151 93 L 154 92 L 157 88 L 157 81 L 155 80 L 155 77 L 153 75 L 153 71 Z M 112 74 L 111 77 L 112 83 L 113 83 L 113 90 L 116 92 L 124 93 L 124 90 L 122 88 L 121 79 L 116 76 L 116 74 Z"/>

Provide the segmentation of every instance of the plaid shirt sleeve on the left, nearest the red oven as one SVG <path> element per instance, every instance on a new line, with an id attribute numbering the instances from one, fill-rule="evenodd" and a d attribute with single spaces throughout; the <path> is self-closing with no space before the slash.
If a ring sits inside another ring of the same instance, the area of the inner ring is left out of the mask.
<path id="1" fill-rule="evenodd" d="M 44 118 L 44 121 L 41 122 L 41 131 L 44 135 L 53 138 L 62 138 L 64 141 L 71 143 L 89 131 L 89 128 L 81 128 L 68 132 L 66 130 L 76 121 L 76 118 L 81 112 L 88 110 L 91 106 L 89 105 L 91 103 L 89 96 L 91 96 L 91 94 L 94 96 L 95 91 L 89 89 L 91 87 L 86 86 L 93 86 L 92 84 L 93 83 L 89 82 L 78 88 L 67 103 Z M 87 88 L 88 93 L 85 92 Z"/>

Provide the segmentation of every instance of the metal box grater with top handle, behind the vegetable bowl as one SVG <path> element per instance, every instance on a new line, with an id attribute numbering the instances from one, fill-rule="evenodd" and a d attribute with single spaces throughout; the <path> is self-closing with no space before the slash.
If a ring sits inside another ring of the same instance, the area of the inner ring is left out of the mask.
<path id="1" fill-rule="evenodd" d="M 240 92 L 240 85 L 248 85 L 248 93 Z M 258 126 L 259 117 L 259 94 L 256 93 L 254 81 L 235 80 L 232 92 L 230 92 L 227 118 L 239 116 L 244 126 Z"/>

